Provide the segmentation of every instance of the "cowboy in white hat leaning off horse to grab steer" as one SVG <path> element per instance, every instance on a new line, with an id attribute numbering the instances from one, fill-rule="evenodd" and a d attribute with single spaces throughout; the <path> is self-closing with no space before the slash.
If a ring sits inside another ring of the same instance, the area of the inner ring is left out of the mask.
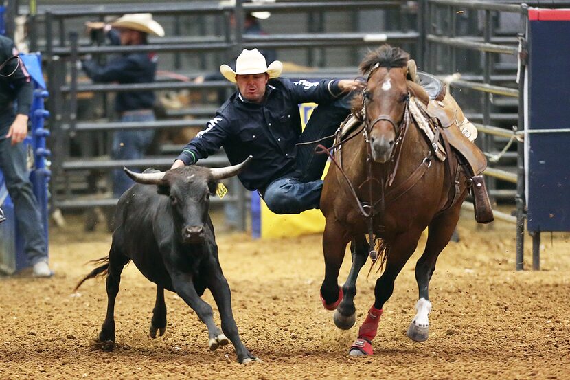
<path id="1" fill-rule="evenodd" d="M 269 210 L 298 214 L 319 208 L 326 155 L 315 155 L 317 144 L 332 144 L 331 135 L 348 113 L 348 97 L 359 87 L 355 80 L 295 82 L 280 78 L 283 64 L 269 66 L 258 49 L 238 56 L 236 70 L 221 65 L 220 72 L 238 91 L 182 150 L 172 168 L 196 164 L 223 147 L 231 164 L 249 155 L 251 164 L 238 175 L 248 190 L 258 190 Z M 299 104 L 315 102 L 301 132 Z"/>

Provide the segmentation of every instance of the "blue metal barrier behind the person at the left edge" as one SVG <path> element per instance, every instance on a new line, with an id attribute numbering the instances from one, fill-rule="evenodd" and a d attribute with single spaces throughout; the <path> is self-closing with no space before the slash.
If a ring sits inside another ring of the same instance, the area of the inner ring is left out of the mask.
<path id="1" fill-rule="evenodd" d="M 49 131 L 44 128 L 44 121 L 49 117 L 49 112 L 44 109 L 44 99 L 47 98 L 45 82 L 41 71 L 40 54 L 20 55 L 27 71 L 34 83 L 34 100 L 30 111 L 31 129 L 23 144 L 26 144 L 33 157 L 33 167 L 30 172 L 30 180 L 34 190 L 34 195 L 41 208 L 41 216 L 44 226 L 44 234 L 48 237 L 48 184 L 51 173 L 46 167 L 46 158 L 50 152 L 46 148 L 45 139 L 49 136 Z M 14 218 L 14 204 L 8 195 L 0 171 L 0 204 L 4 210 L 7 220 L 0 225 L 0 271 L 13 273 L 27 267 L 29 263 L 23 252 L 23 241 L 18 233 L 18 226 Z"/>

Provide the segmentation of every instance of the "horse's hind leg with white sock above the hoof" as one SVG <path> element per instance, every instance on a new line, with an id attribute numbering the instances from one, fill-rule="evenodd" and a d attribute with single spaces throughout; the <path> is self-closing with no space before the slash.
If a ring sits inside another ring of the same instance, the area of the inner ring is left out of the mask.
<path id="1" fill-rule="evenodd" d="M 415 265 L 415 280 L 418 282 L 419 298 L 415 304 L 416 314 L 406 332 L 407 337 L 416 342 L 424 342 L 429 336 L 429 281 L 435 271 L 435 263 L 440 252 L 449 243 L 459 220 L 461 202 L 437 216 L 429 224 L 429 234 L 422 257 Z"/>

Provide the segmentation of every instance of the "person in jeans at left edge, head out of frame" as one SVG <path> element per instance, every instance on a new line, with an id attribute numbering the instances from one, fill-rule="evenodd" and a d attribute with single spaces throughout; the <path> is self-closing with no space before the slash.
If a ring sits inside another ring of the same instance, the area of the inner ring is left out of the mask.
<path id="1" fill-rule="evenodd" d="M 14 42 L 0 36 L 0 63 L 5 63 L 18 50 Z M 28 114 L 33 100 L 32 79 L 20 59 L 11 59 L 0 71 L 0 170 L 12 202 L 24 252 L 33 267 L 34 276 L 50 277 L 47 241 L 43 234 L 41 212 L 27 170 Z M 3 219 L 3 213 L 0 214 Z M 1 223 L 1 221 L 0 221 Z"/>

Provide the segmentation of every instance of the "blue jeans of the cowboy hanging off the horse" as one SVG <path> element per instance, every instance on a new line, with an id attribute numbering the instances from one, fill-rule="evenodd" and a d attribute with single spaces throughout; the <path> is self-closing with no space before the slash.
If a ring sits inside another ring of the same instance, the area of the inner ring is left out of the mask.
<path id="1" fill-rule="evenodd" d="M 319 106 L 299 137 L 299 142 L 312 142 L 330 136 L 337 131 L 339 124 L 350 112 L 349 97 L 341 98 L 332 104 Z M 315 154 L 317 144 L 331 146 L 334 137 L 328 137 L 315 144 L 297 146 L 295 172 L 275 179 L 260 193 L 267 208 L 275 214 L 299 214 L 305 210 L 319 208 L 327 155 Z"/>

